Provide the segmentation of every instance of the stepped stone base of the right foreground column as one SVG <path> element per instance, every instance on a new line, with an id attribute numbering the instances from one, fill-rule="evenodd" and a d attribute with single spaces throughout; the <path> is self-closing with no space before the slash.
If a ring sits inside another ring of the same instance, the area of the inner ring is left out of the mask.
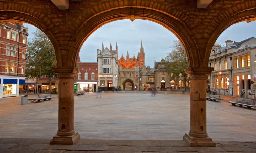
<path id="1" fill-rule="evenodd" d="M 215 147 L 214 141 L 210 137 L 206 138 L 196 138 L 185 134 L 183 140 L 187 142 L 190 146 L 206 146 L 206 147 Z"/>

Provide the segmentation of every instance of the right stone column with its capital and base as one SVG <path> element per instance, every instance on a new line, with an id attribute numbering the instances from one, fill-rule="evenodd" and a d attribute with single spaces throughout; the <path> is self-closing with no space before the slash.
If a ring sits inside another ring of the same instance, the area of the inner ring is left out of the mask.
<path id="1" fill-rule="evenodd" d="M 206 77 L 212 71 L 207 69 L 189 69 L 190 92 L 190 131 L 185 134 L 183 140 L 190 146 L 215 146 L 208 137 L 206 130 Z"/>

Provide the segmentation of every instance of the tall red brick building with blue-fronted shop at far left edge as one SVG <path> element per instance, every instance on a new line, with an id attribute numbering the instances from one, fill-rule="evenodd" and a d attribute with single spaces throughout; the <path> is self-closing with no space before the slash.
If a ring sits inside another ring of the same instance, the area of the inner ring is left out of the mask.
<path id="1" fill-rule="evenodd" d="M 23 90 L 27 36 L 23 24 L 0 24 L 0 97 L 18 96 Z"/>

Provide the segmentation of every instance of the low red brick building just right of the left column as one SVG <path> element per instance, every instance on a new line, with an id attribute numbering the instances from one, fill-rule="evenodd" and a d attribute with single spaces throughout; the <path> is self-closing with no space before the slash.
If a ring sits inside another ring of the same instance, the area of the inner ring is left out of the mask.
<path id="1" fill-rule="evenodd" d="M 75 77 L 75 88 L 86 92 L 96 92 L 98 88 L 98 63 L 97 62 L 81 62 L 77 57 L 76 66 L 79 69 L 78 75 Z"/>

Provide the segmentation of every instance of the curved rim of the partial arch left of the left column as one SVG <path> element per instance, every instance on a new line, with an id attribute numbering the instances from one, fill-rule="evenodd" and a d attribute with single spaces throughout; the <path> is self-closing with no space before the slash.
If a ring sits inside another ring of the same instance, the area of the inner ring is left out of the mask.
<path id="1" fill-rule="evenodd" d="M 48 30 L 47 26 L 44 24 L 44 22 L 41 22 L 39 19 L 30 16 L 28 14 L 22 13 L 22 12 L 15 12 L 15 11 L 0 11 L 0 24 L 5 22 L 24 22 L 29 23 L 31 25 L 34 25 L 38 29 L 40 29 L 42 32 L 44 32 L 48 38 L 51 40 L 54 49 L 55 49 L 55 55 L 57 59 L 57 63 L 61 63 L 61 55 L 59 54 L 59 45 L 57 40 L 54 37 L 54 34 Z"/>

